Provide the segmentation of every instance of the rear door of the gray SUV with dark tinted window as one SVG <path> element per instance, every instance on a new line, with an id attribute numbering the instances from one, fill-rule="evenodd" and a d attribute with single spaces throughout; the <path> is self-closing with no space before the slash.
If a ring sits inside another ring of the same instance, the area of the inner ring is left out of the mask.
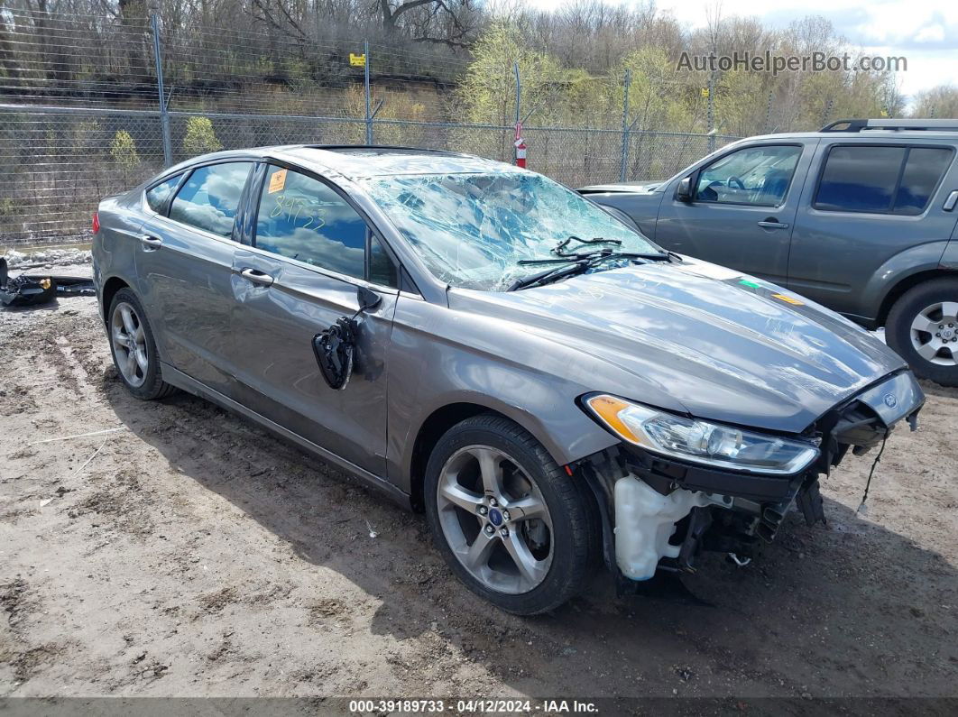
<path id="1" fill-rule="evenodd" d="M 875 318 L 879 307 L 861 301 L 868 280 L 902 251 L 951 235 L 955 214 L 943 205 L 958 171 L 954 153 L 934 142 L 823 141 L 795 219 L 789 288 Z M 952 181 L 943 184 L 949 168 Z"/>

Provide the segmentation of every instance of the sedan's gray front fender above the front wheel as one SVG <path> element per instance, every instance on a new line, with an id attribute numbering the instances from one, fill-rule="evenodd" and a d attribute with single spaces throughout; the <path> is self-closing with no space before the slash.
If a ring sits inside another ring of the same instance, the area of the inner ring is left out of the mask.
<path id="1" fill-rule="evenodd" d="M 568 363 L 557 355 L 561 347 L 528 341 L 520 349 L 518 330 L 400 295 L 387 360 L 386 449 L 388 474 L 399 488 L 410 491 L 423 424 L 452 404 L 506 415 L 536 437 L 559 465 L 618 442 L 576 404 L 583 392 L 595 387 L 556 370 L 542 370 L 543 362 Z M 523 360 L 503 358 L 515 351 Z"/>

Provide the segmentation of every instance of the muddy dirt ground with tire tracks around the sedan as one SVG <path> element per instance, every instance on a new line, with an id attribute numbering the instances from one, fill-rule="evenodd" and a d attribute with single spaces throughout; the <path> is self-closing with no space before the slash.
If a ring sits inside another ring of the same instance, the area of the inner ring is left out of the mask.
<path id="1" fill-rule="evenodd" d="M 505 615 L 421 516 L 237 416 L 142 403 L 93 299 L 0 311 L 0 696 L 958 696 L 958 391 L 824 482 L 712 606 L 600 574 Z M 84 433 L 89 437 L 71 436 Z"/>

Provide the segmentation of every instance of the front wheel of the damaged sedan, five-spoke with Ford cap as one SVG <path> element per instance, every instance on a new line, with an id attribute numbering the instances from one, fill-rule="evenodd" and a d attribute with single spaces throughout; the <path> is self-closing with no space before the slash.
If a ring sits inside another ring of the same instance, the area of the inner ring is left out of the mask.
<path id="1" fill-rule="evenodd" d="M 598 518 L 582 479 L 526 431 L 478 415 L 439 440 L 426 467 L 429 528 L 476 594 L 516 615 L 577 594 L 598 555 Z"/>

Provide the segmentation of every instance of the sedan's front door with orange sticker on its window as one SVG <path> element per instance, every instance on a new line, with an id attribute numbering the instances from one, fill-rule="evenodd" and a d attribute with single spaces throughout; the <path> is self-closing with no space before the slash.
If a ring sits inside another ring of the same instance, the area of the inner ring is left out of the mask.
<path id="1" fill-rule="evenodd" d="M 265 165 L 251 191 L 252 237 L 233 262 L 233 353 L 240 403 L 341 459 L 385 476 L 386 353 L 398 263 L 347 197 L 320 177 Z M 324 381 L 312 339 L 358 308 L 353 376 Z"/>

